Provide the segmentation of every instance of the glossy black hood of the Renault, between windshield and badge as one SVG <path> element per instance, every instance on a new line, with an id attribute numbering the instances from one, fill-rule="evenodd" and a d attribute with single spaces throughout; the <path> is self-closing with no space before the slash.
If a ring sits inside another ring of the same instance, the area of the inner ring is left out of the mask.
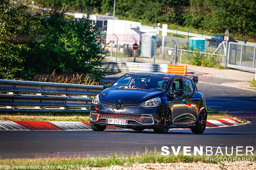
<path id="1" fill-rule="evenodd" d="M 133 89 L 105 89 L 100 93 L 99 99 L 115 103 L 118 100 L 123 103 L 142 103 L 156 97 L 155 95 L 162 93 L 149 90 L 133 90 Z M 158 96 L 157 96 L 158 97 Z"/>

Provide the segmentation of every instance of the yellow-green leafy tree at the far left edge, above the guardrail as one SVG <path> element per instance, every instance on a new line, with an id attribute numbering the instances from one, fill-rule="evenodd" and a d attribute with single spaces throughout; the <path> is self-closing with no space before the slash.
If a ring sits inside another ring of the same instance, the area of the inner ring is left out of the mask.
<path id="1" fill-rule="evenodd" d="M 20 51 L 26 47 L 15 40 L 17 29 L 22 26 L 27 6 L 12 7 L 9 0 L 0 2 L 0 79 L 26 77 Z"/>

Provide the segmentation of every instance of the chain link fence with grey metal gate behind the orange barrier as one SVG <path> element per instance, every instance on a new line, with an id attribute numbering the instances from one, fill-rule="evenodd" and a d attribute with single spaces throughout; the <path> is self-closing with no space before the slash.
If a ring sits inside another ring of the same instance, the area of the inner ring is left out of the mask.
<path id="1" fill-rule="evenodd" d="M 143 62 L 143 63 L 164 63 L 172 64 L 175 63 L 175 56 L 177 56 L 177 63 L 188 63 L 193 65 L 202 65 L 207 67 L 219 67 L 224 66 L 224 55 L 225 47 L 218 42 L 205 41 L 205 51 L 189 50 L 189 39 L 188 37 L 179 36 L 165 36 L 164 37 L 164 48 L 162 47 L 162 36 L 156 35 L 156 38 L 152 38 L 147 42 L 147 47 L 141 46 L 134 50 L 131 43 L 123 43 L 122 45 L 113 44 L 113 54 L 107 61 L 115 61 L 117 51 L 117 61 L 123 59 L 127 61 Z M 135 43 L 135 41 L 134 41 Z M 137 42 L 138 43 L 138 42 Z M 176 44 L 178 45 L 176 55 Z M 229 42 L 228 43 L 228 54 L 227 54 L 227 67 L 255 71 L 256 59 L 255 59 L 255 48 L 254 45 L 245 43 Z M 112 44 L 108 44 L 107 49 L 110 55 L 110 49 Z M 149 54 L 148 57 L 142 57 L 141 47 L 146 48 Z M 217 51 L 215 49 L 218 48 Z M 171 50 L 171 54 L 169 52 Z M 136 55 L 136 58 L 134 57 Z M 123 58 L 123 59 L 122 59 Z"/>

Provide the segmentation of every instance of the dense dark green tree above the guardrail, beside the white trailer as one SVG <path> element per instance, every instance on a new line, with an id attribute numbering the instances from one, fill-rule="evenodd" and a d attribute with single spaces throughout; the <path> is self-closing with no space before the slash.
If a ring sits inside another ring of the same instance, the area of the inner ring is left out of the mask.
<path id="1" fill-rule="evenodd" d="M 78 20 L 61 13 L 28 14 L 20 31 L 45 38 L 26 43 L 30 50 L 22 53 L 25 68 L 31 73 L 84 73 L 99 80 L 104 74 L 100 69 L 105 54 L 103 36 L 89 18 L 89 14 Z"/>

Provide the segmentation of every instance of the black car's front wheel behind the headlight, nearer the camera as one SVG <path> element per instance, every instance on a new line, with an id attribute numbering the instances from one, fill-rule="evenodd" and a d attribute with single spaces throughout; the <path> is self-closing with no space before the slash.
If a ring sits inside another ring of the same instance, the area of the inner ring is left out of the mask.
<path id="1" fill-rule="evenodd" d="M 171 125 L 171 111 L 166 108 L 163 111 L 161 121 L 158 128 L 154 128 L 155 133 L 167 133 Z"/>

